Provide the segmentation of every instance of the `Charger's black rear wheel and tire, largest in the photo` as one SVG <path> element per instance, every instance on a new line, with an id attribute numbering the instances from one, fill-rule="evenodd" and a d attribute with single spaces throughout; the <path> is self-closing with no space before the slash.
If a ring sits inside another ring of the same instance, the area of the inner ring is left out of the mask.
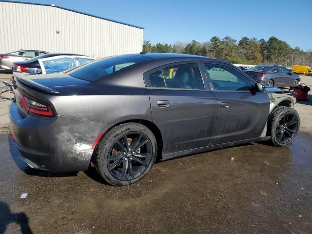
<path id="1" fill-rule="evenodd" d="M 157 142 L 152 131 L 143 124 L 124 123 L 113 127 L 102 138 L 95 166 L 111 185 L 133 184 L 152 168 L 157 155 Z"/>

